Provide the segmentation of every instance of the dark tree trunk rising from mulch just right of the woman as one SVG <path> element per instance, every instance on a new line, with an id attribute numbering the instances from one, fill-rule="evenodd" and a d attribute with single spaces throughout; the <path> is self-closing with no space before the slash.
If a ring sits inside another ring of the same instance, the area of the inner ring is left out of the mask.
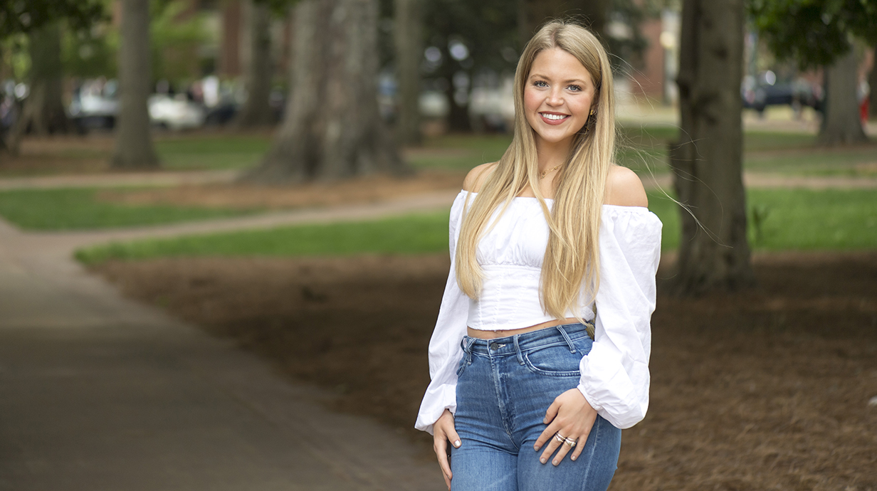
<path id="1" fill-rule="evenodd" d="M 681 139 L 671 146 L 682 237 L 677 293 L 753 283 L 746 240 L 740 82 L 743 0 L 685 0 L 680 70 Z"/>

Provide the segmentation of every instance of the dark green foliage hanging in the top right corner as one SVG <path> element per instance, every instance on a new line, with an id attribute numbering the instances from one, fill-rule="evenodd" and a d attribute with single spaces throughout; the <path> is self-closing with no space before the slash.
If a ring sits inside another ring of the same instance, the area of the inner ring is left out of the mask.
<path id="1" fill-rule="evenodd" d="M 877 44 L 877 0 L 749 0 L 748 9 L 774 53 L 801 68 L 831 65 L 851 35 Z"/>

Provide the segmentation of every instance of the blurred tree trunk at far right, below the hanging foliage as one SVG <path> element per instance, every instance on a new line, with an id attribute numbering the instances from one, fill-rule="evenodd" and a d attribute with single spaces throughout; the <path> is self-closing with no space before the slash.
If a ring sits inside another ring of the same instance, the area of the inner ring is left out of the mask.
<path id="1" fill-rule="evenodd" d="M 825 110 L 819 128 L 819 143 L 844 145 L 867 141 L 859 119 L 859 63 L 856 53 L 838 58 L 825 68 Z"/>

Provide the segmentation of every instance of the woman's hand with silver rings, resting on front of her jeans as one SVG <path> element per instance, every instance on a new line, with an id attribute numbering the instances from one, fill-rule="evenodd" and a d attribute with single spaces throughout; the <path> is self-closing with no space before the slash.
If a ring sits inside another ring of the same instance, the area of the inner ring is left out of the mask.
<path id="1" fill-rule="evenodd" d="M 571 445 L 563 443 L 559 438 L 555 438 L 557 434 L 560 434 L 561 438 L 576 440 L 575 450 L 570 459 L 578 459 L 581 451 L 585 448 L 585 442 L 588 441 L 588 434 L 594 427 L 596 418 L 597 412 L 591 407 L 585 396 L 581 395 L 578 388 L 571 388 L 558 395 L 545 412 L 545 424 L 548 427 L 539 435 L 536 445 L 533 445 L 533 450 L 538 451 L 542 445 L 545 445 L 545 442 L 548 443 L 545 451 L 539 457 L 539 461 L 545 464 L 548 459 L 551 459 L 554 451 L 560 447 L 560 451 L 552 460 L 552 464 L 557 466 L 567 456 L 567 452 L 573 448 Z"/>

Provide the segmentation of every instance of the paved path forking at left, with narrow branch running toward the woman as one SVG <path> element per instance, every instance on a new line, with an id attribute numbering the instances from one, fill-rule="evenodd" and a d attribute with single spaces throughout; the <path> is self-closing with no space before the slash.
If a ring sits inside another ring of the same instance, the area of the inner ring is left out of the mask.
<path id="1" fill-rule="evenodd" d="M 148 230 L 23 233 L 0 221 L 0 490 L 443 489 L 438 466 L 393 431 L 326 411 L 331 395 L 122 298 L 70 253 L 446 208 L 453 194 Z"/>

